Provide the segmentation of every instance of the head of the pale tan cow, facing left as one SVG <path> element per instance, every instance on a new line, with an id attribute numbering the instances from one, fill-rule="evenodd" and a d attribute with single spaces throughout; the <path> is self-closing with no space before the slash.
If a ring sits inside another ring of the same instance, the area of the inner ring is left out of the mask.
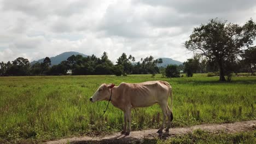
<path id="1" fill-rule="evenodd" d="M 97 91 L 94 93 L 94 95 L 92 95 L 92 97 L 90 98 L 91 102 L 95 102 L 95 101 L 100 101 L 100 100 L 108 100 L 108 98 L 110 97 L 111 94 L 111 89 L 114 87 L 115 85 L 113 83 L 110 84 L 106 84 L 103 83 L 100 87 L 98 87 Z"/>

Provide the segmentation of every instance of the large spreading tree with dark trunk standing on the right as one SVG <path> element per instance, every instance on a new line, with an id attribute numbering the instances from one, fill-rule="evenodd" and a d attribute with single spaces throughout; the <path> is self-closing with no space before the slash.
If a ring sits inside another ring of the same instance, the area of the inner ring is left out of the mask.
<path id="1" fill-rule="evenodd" d="M 235 61 L 242 50 L 252 46 L 255 36 L 256 24 L 252 19 L 243 26 L 212 19 L 206 25 L 194 28 L 189 40 L 185 41 L 185 47 L 217 62 L 219 80 L 225 81 L 225 75 L 230 73 L 226 65 L 230 59 Z"/>

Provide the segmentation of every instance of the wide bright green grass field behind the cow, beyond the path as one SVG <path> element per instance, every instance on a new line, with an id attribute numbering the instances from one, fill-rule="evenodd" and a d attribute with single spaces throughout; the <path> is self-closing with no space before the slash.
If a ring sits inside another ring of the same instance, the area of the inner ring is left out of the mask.
<path id="1" fill-rule="evenodd" d="M 0 77 L 0 140 L 50 140 L 72 135 L 120 131 L 123 112 L 107 101 L 90 103 L 101 83 L 164 80 L 173 87 L 172 127 L 256 119 L 256 77 L 161 78 L 160 75 L 129 76 L 28 76 Z M 169 101 L 170 102 L 170 101 Z M 160 113 L 160 116 L 159 114 Z M 158 128 L 158 105 L 132 111 L 132 130 Z M 0 141 L 0 142 L 1 142 Z"/>

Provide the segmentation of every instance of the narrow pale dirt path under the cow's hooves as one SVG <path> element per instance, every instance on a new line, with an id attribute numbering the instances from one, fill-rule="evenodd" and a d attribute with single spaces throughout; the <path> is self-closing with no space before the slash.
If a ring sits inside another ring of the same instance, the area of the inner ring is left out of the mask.
<path id="1" fill-rule="evenodd" d="M 202 129 L 205 131 L 210 131 L 211 133 L 219 133 L 224 131 L 226 133 L 235 133 L 239 131 L 248 131 L 256 129 L 256 121 L 246 121 L 246 122 L 236 122 L 236 123 L 225 123 L 225 124 L 202 124 L 195 125 L 189 128 L 172 128 L 169 132 L 164 134 L 157 134 L 157 129 L 148 129 L 142 131 L 132 131 L 129 136 L 121 135 L 120 133 L 114 133 L 112 135 L 106 136 L 83 136 L 83 137 L 72 137 L 68 139 L 61 139 L 56 141 L 48 141 L 46 143 L 134 143 L 136 141 L 142 140 L 144 138 L 153 139 L 155 137 L 164 136 L 171 137 L 175 135 L 182 135 L 193 132 L 196 129 Z"/>

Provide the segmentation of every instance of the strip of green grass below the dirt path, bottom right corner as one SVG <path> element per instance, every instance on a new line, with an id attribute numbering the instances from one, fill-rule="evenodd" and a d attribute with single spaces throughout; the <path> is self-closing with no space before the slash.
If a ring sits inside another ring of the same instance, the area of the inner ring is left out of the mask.
<path id="1" fill-rule="evenodd" d="M 167 140 L 160 139 L 145 139 L 141 143 L 147 144 L 175 144 L 175 143 L 256 143 L 256 131 L 248 131 L 243 133 L 220 133 L 220 134 L 212 134 L 203 130 L 196 130 L 193 133 L 180 135 L 176 137 L 172 137 Z"/>

